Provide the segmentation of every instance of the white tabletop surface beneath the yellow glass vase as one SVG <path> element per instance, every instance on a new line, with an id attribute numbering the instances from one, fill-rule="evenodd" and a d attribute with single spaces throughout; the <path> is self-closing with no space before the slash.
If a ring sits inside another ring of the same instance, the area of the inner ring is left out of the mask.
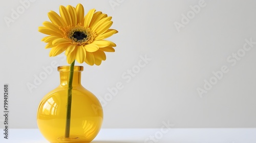
<path id="1" fill-rule="evenodd" d="M 2 129 L 1 129 L 2 130 Z M 0 142 L 47 143 L 38 129 L 10 129 Z M 92 143 L 255 143 L 256 128 L 233 129 L 101 129 Z"/>

